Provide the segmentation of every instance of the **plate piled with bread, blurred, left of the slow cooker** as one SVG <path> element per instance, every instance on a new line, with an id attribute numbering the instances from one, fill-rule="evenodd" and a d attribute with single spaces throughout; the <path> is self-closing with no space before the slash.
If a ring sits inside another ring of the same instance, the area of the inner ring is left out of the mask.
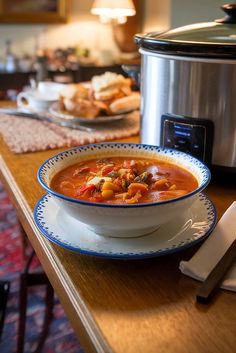
<path id="1" fill-rule="evenodd" d="M 132 91 L 132 80 L 105 72 L 90 82 L 65 85 L 50 113 L 74 123 L 96 124 L 123 119 L 139 107 L 140 93 Z"/>

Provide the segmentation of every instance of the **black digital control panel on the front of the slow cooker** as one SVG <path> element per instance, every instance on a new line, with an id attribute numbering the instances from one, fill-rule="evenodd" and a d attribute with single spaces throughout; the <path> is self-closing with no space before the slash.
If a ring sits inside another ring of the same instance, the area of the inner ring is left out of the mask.
<path id="1" fill-rule="evenodd" d="M 164 114 L 161 144 L 193 155 L 211 164 L 214 125 L 211 120 Z"/>

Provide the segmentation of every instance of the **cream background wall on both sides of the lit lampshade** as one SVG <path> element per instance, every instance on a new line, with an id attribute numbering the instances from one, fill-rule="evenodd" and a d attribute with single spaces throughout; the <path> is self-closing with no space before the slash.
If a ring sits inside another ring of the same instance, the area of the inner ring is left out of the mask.
<path id="1" fill-rule="evenodd" d="M 33 1 L 33 0 L 32 0 Z M 114 56 L 119 49 L 110 25 L 103 25 L 90 14 L 93 0 L 71 0 L 69 22 L 61 25 L 0 25 L 0 59 L 5 41 L 12 40 L 17 56 L 33 55 L 36 48 L 58 48 L 80 45 L 94 52 L 110 50 Z M 223 17 L 222 0 L 141 0 L 142 31 L 164 31 L 181 25 L 212 21 Z"/>

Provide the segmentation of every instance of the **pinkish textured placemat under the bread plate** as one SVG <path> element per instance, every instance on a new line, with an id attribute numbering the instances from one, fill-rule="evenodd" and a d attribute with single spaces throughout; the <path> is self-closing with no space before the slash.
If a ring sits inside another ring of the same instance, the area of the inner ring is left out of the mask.
<path id="1" fill-rule="evenodd" d="M 75 147 L 137 135 L 139 133 L 139 112 L 132 112 L 119 121 L 96 125 L 93 132 L 61 127 L 46 121 L 0 114 L 0 133 L 14 153 Z"/>

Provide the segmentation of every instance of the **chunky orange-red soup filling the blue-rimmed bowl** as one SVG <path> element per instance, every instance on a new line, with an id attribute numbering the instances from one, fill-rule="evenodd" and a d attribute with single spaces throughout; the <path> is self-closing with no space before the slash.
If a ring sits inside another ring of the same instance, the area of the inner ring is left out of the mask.
<path id="1" fill-rule="evenodd" d="M 58 172 L 51 182 L 63 195 L 109 204 L 170 200 L 197 187 L 196 178 L 174 164 L 126 157 L 80 162 Z"/>

